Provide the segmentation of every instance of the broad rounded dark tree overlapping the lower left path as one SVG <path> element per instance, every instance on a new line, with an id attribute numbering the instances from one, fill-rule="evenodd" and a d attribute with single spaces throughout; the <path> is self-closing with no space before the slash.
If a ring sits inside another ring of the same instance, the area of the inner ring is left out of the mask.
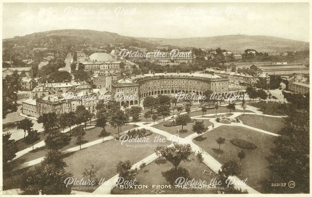
<path id="1" fill-rule="evenodd" d="M 61 148 L 69 145 L 71 137 L 60 131 L 54 133 L 53 135 L 49 134 L 44 140 L 46 147 L 49 150 L 60 150 Z"/>

